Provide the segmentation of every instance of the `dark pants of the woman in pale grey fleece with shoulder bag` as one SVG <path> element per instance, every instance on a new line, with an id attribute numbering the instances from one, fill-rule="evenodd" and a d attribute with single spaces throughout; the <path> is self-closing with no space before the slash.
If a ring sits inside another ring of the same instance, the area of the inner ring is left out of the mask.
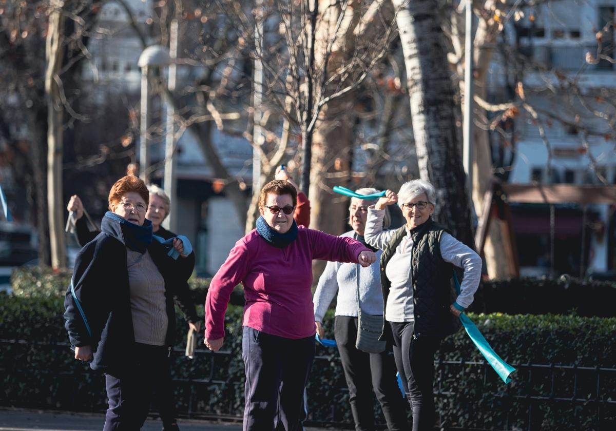
<path id="1" fill-rule="evenodd" d="M 374 390 L 381 404 L 389 431 L 408 429 L 406 403 L 395 377 L 395 361 L 391 348 L 383 353 L 365 353 L 355 348 L 357 317 L 336 316 L 334 337 L 338 344 L 344 377 L 349 387 L 349 403 L 355 430 L 373 431 L 375 412 Z"/>

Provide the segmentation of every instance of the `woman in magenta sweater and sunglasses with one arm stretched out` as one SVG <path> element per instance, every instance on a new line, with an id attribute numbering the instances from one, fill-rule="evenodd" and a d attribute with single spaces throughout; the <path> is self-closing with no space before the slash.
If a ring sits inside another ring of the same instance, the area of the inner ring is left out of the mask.
<path id="1" fill-rule="evenodd" d="M 224 339 L 230 294 L 237 284 L 244 286 L 245 431 L 291 431 L 298 426 L 314 358 L 312 259 L 363 267 L 376 260 L 373 251 L 352 238 L 298 228 L 293 220 L 296 203 L 290 183 L 274 180 L 265 185 L 256 230 L 237 241 L 205 301 L 205 344 L 216 351 Z"/>

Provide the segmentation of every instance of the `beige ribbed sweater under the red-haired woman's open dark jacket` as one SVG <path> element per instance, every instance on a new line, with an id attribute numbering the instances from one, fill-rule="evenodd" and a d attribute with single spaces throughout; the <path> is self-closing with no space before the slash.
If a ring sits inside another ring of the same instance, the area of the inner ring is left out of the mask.
<path id="1" fill-rule="evenodd" d="M 131 289 L 132 326 L 135 341 L 164 345 L 169 324 L 164 296 L 164 279 L 146 250 L 144 254 L 126 249 L 126 266 Z"/>

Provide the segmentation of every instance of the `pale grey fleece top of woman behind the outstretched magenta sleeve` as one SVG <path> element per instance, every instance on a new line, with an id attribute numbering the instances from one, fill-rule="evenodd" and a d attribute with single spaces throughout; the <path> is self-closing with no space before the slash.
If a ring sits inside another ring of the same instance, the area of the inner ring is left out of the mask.
<path id="1" fill-rule="evenodd" d="M 354 232 L 346 232 L 340 236 L 353 237 Z M 325 270 L 318 279 L 317 290 L 314 292 L 314 320 L 323 322 L 323 316 L 336 298 L 336 316 L 357 317 L 357 267 L 359 267 L 359 299 L 362 311 L 368 314 L 383 314 L 383 291 L 381 290 L 381 275 L 379 259 L 383 251 L 376 252 L 376 262 L 367 268 L 359 264 L 343 264 L 327 262 Z"/>

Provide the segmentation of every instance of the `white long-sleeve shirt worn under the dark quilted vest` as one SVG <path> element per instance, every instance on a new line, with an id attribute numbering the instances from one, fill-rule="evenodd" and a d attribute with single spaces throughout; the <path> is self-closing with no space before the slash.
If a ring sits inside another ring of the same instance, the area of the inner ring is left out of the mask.
<path id="1" fill-rule="evenodd" d="M 371 246 L 383 250 L 391 241 L 394 231 L 383 230 L 384 209 L 368 208 L 368 220 L 364 232 L 365 241 Z M 463 308 L 472 304 L 479 280 L 481 278 L 481 258 L 468 246 L 453 238 L 447 232 L 440 238 L 440 254 L 445 262 L 449 262 L 464 270 L 460 283 L 460 295 L 456 303 Z M 391 322 L 413 321 L 413 283 L 411 280 L 411 252 L 413 239 L 407 228 L 407 235 L 402 238 L 395 249 L 391 260 L 387 263 L 385 273 L 391 288 L 387 297 L 385 319 Z"/>

